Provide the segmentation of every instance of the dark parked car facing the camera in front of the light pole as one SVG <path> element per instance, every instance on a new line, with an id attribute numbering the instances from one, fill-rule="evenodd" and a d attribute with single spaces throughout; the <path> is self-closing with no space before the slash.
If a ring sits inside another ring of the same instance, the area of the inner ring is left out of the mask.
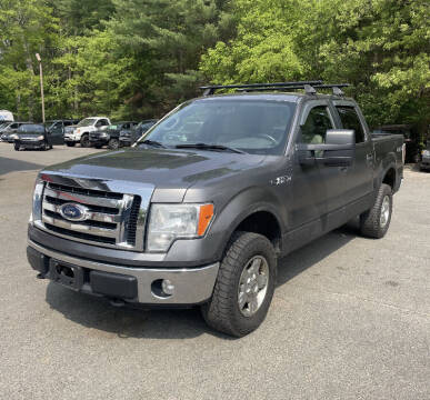
<path id="1" fill-rule="evenodd" d="M 13 147 L 17 151 L 52 149 L 51 133 L 42 123 L 24 123 L 13 134 Z"/>

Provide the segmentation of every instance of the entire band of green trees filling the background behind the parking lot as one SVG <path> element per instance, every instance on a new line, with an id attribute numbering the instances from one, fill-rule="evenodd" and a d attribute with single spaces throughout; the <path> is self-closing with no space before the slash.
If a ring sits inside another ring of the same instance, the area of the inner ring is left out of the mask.
<path id="1" fill-rule="evenodd" d="M 0 108 L 159 117 L 200 83 L 346 81 L 372 126 L 430 116 L 428 0 L 0 0 Z"/>

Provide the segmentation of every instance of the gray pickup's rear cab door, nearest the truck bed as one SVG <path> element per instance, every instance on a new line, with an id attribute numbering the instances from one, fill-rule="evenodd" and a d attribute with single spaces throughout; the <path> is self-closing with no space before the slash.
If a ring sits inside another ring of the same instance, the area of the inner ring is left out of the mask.
<path id="1" fill-rule="evenodd" d="M 351 203 L 369 198 L 373 192 L 374 151 L 369 128 L 353 101 L 334 100 L 334 109 L 343 129 L 356 131 L 356 157 L 352 166 L 346 168 L 344 199 Z"/>

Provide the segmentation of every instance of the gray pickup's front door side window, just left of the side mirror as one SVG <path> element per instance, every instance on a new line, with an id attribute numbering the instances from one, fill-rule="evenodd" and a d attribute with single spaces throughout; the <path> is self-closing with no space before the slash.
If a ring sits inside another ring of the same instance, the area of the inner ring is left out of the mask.
<path id="1" fill-rule="evenodd" d="M 324 143 L 328 129 L 333 129 L 328 107 L 313 107 L 301 126 L 301 140 L 303 143 Z"/>

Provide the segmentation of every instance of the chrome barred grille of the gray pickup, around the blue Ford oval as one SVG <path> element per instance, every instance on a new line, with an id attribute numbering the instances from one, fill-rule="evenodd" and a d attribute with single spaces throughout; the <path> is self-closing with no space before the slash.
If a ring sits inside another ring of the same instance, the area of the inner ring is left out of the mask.
<path id="1" fill-rule="evenodd" d="M 63 218 L 60 209 L 64 203 L 84 206 L 88 209 L 87 219 L 71 221 Z M 141 198 L 137 194 L 47 182 L 39 227 L 86 243 L 142 250 L 144 219 L 139 219 L 140 204 Z"/>

